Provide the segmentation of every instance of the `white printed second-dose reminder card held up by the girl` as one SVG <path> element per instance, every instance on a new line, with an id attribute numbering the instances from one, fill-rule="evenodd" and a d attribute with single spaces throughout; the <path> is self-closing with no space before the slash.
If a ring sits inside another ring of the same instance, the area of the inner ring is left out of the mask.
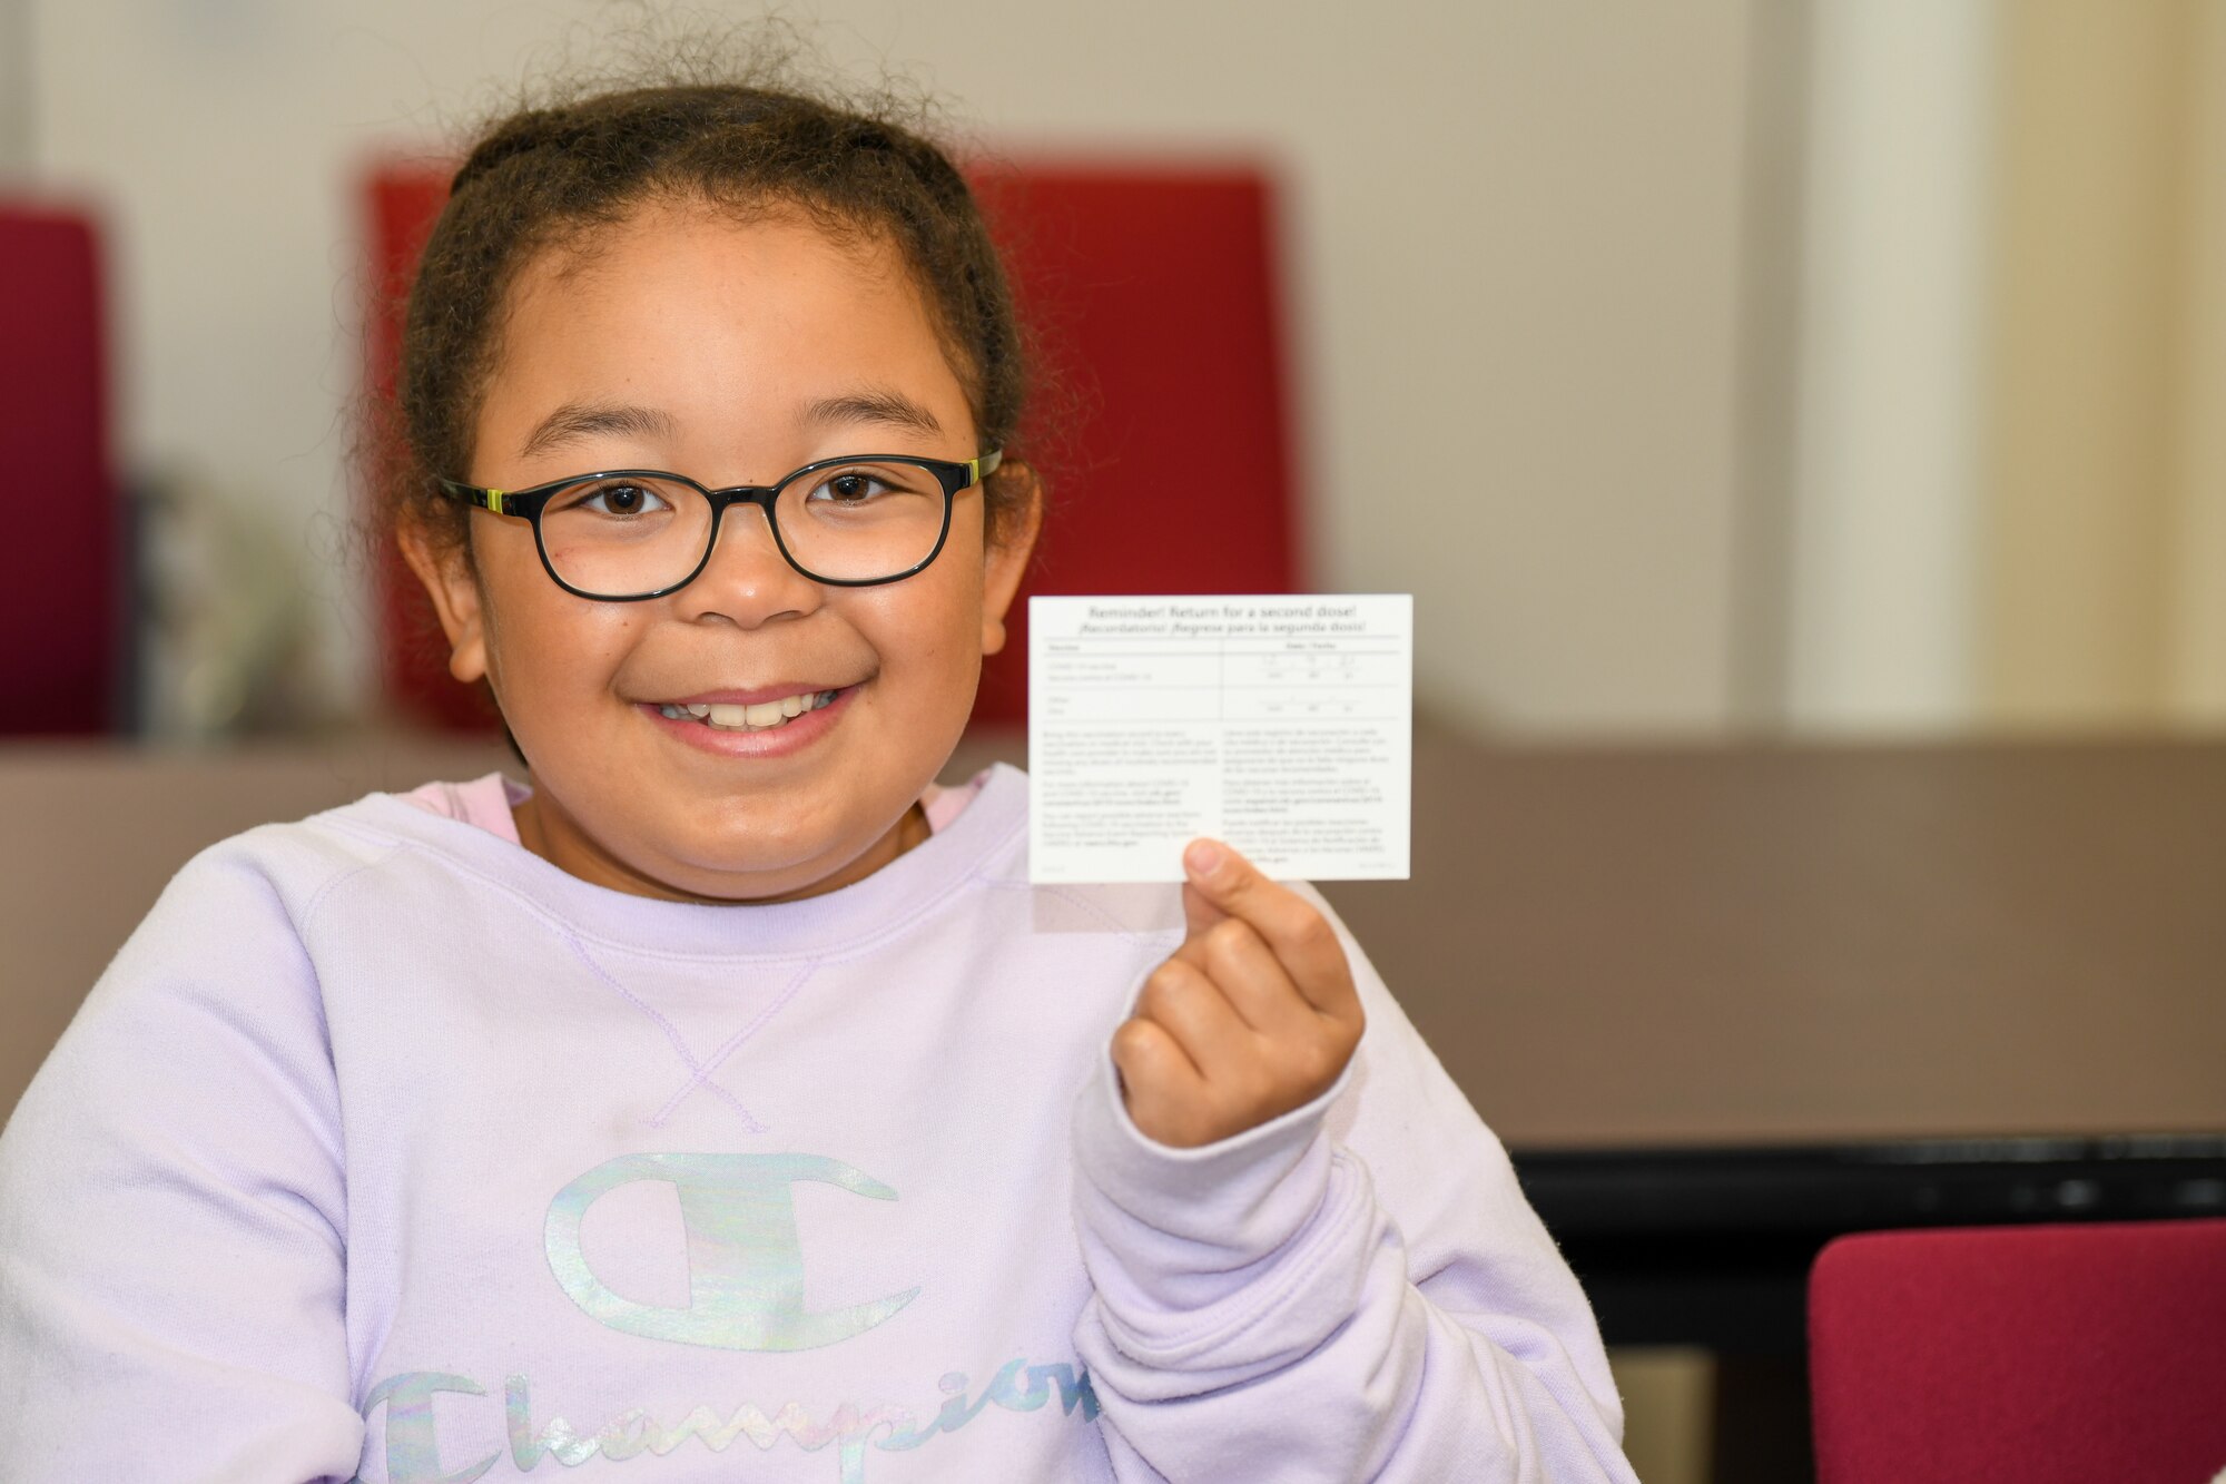
<path id="1" fill-rule="evenodd" d="M 1405 880 L 1414 597 L 1031 597 L 1028 878 Z"/>

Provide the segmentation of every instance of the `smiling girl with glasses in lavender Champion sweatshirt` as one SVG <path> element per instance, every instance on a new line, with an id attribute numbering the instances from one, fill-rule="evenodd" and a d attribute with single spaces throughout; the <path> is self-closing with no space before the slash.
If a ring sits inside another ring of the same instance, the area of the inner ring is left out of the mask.
<path id="1" fill-rule="evenodd" d="M 521 111 L 394 526 L 528 762 L 185 867 L 0 1141 L 0 1480 L 1629 1480 L 1585 1299 L 1322 900 L 937 791 L 1042 497 L 951 160 Z M 1365 1027 L 1365 1029 L 1362 1029 Z"/>

